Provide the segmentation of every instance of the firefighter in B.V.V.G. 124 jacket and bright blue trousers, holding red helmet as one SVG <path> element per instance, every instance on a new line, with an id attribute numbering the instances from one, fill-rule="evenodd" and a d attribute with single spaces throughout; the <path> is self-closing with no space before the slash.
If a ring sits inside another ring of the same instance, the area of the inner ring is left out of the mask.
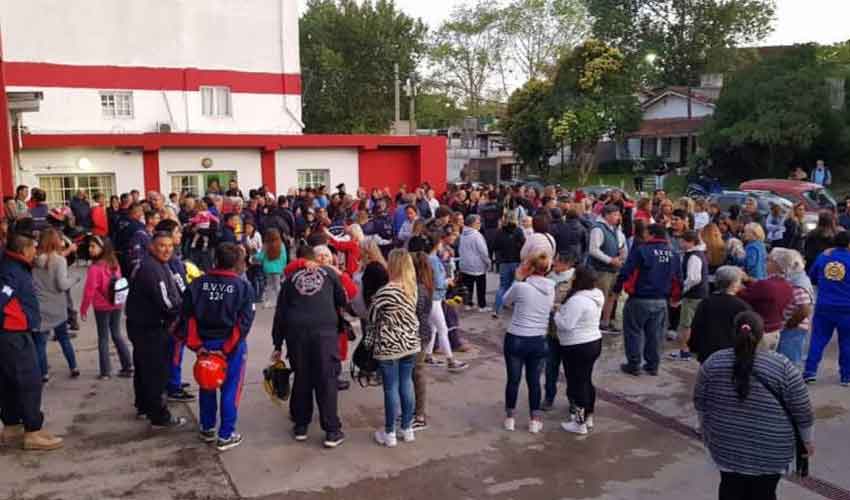
<path id="1" fill-rule="evenodd" d="M 242 258 L 237 245 L 221 243 L 215 250 L 215 269 L 194 280 L 184 296 L 186 345 L 199 354 L 220 353 L 227 359 L 221 390 L 221 425 L 216 434 L 216 391 L 200 391 L 201 439 L 217 440 L 219 451 L 239 446 L 236 432 L 239 399 L 245 379 L 245 337 L 254 322 L 254 289 L 239 277 Z"/>

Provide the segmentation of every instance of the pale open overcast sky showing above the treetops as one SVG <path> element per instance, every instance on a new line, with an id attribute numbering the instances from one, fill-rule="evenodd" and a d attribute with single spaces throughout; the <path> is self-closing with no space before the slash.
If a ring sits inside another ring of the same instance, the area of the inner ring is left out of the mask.
<path id="1" fill-rule="evenodd" d="M 303 6 L 306 0 L 298 0 Z M 463 0 L 396 0 L 401 9 L 431 26 L 449 15 Z M 850 0 L 777 0 L 774 33 L 760 45 L 802 42 L 835 43 L 850 39 Z"/>

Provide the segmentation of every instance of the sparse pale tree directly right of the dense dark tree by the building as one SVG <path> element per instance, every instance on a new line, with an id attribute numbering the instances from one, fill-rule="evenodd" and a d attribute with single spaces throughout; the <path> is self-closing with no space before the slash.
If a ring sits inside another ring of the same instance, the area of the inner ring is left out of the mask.
<path id="1" fill-rule="evenodd" d="M 493 0 L 456 7 L 434 33 L 430 79 L 449 91 L 473 116 L 488 94 L 504 48 L 500 10 Z"/>

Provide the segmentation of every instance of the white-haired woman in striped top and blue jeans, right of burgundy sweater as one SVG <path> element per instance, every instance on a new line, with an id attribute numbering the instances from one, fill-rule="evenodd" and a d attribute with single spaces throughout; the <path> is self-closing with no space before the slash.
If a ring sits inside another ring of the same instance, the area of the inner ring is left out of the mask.
<path id="1" fill-rule="evenodd" d="M 776 350 L 802 369 L 803 345 L 806 343 L 806 335 L 811 331 L 814 287 L 806 274 L 806 263 L 800 252 L 788 248 L 774 248 L 770 251 L 769 258 L 776 263 L 794 290 L 791 303 L 782 314 L 785 325 L 779 333 L 779 345 Z"/>

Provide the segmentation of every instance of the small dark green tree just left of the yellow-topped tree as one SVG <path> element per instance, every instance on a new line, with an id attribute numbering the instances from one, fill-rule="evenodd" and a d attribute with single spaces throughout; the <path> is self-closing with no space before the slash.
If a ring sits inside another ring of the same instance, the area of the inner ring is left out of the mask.
<path id="1" fill-rule="evenodd" d="M 549 129 L 552 109 L 552 84 L 530 80 L 514 91 L 508 99 L 508 109 L 502 129 L 514 154 L 526 166 L 548 175 L 549 157 L 556 143 Z"/>

